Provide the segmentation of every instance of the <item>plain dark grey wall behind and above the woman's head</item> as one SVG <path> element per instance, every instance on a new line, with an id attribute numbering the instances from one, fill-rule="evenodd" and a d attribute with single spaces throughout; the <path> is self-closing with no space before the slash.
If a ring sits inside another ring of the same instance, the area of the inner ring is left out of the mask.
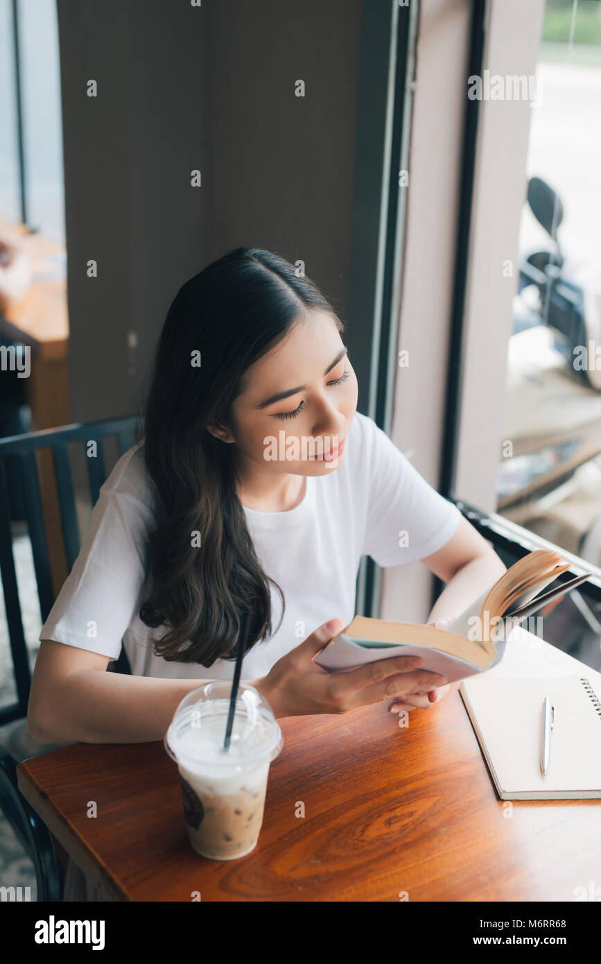
<path id="1" fill-rule="evenodd" d="M 345 317 L 361 0 L 58 10 L 72 419 L 134 411 L 178 286 L 229 248 L 302 259 Z"/>

